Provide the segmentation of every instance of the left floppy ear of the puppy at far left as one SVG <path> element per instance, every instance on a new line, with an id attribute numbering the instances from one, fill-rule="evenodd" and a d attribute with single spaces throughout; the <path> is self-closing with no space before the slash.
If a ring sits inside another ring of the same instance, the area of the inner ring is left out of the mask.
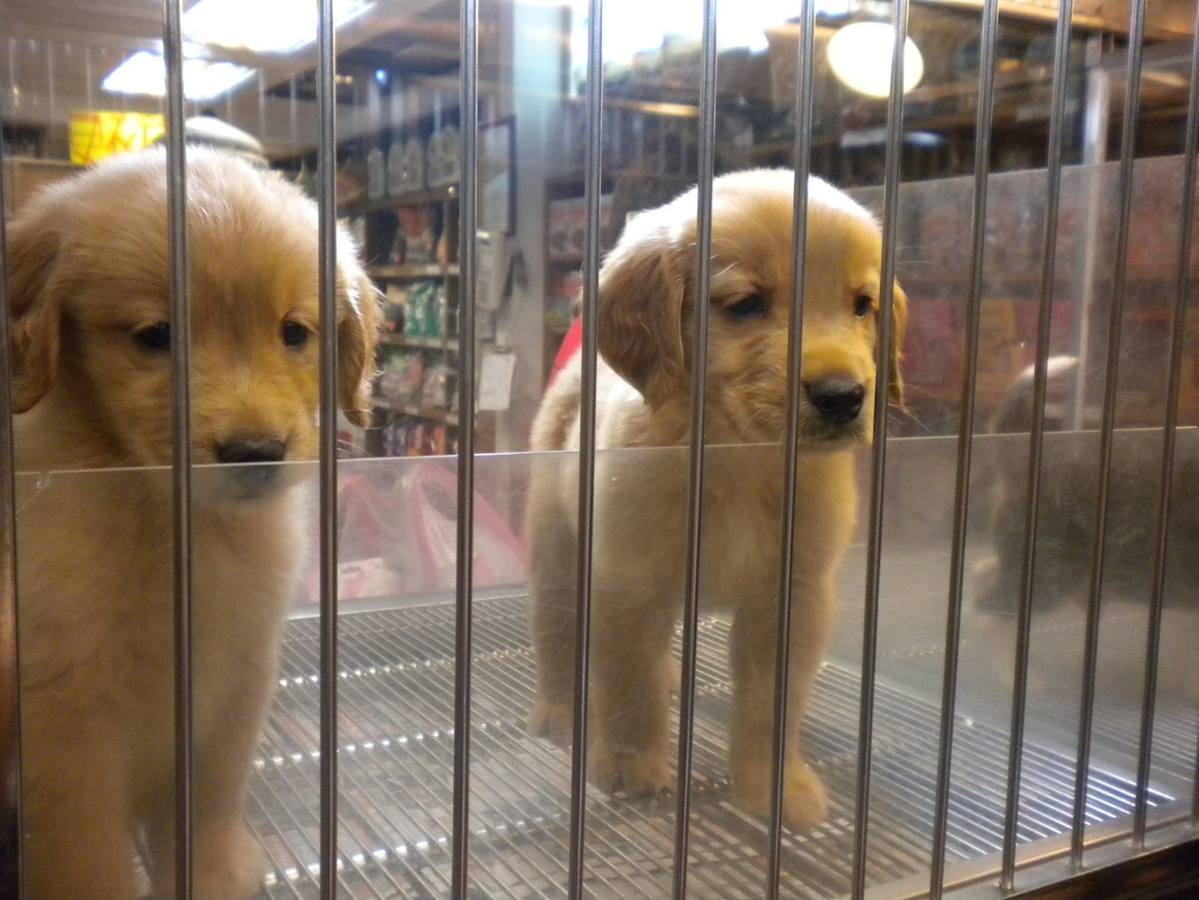
<path id="1" fill-rule="evenodd" d="M 59 370 L 62 309 L 55 274 L 62 247 L 61 215 L 56 204 L 40 198 L 12 221 L 6 235 L 17 412 L 32 409 Z"/>

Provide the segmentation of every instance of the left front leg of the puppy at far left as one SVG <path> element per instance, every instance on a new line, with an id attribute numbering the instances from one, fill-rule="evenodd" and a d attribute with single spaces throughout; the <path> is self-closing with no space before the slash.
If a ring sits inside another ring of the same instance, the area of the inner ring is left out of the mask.
<path id="1" fill-rule="evenodd" d="M 23 827 L 29 900 L 133 900 L 127 760 L 110 712 L 26 694 Z"/>

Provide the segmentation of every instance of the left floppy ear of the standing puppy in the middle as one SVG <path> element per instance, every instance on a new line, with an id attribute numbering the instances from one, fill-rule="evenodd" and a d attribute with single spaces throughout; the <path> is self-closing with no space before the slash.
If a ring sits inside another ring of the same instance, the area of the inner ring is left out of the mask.
<path id="1" fill-rule="evenodd" d="M 600 270 L 600 352 L 650 406 L 686 383 L 686 279 L 667 228 L 634 219 Z"/>

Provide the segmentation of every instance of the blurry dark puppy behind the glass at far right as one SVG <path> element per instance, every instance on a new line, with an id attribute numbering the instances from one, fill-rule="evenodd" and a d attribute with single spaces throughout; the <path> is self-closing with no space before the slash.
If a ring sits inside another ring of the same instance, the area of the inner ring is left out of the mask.
<path id="1" fill-rule="evenodd" d="M 1087 603 L 1095 509 L 1098 491 L 1098 423 L 1087 421 L 1086 435 L 1068 431 L 1079 377 L 1073 356 L 1052 357 L 1048 364 L 1046 437 L 1042 455 L 1041 502 L 1037 508 L 1037 551 L 1034 570 L 1032 612 L 1036 616 L 1076 609 Z M 1012 383 L 992 417 L 989 430 L 1020 435 L 1019 452 L 996 454 L 990 473 L 992 513 L 988 540 L 992 555 L 975 568 L 975 610 L 995 623 L 1010 621 L 1019 608 L 1023 588 L 1025 513 L 1028 490 L 1026 433 L 1032 416 L 1034 370 Z M 1149 600 L 1157 538 L 1161 479 L 1161 437 L 1117 430 L 1113 441 L 1111 475 L 1104 543 L 1103 602 L 1125 610 L 1144 608 Z M 1167 690 L 1199 696 L 1193 653 L 1171 652 L 1199 646 L 1199 442 L 1180 435 L 1170 495 L 1168 564 L 1164 604 L 1173 628 L 1164 634 L 1164 657 L 1180 657 L 1180 665 L 1163 670 Z M 1002 642 L 1000 642 L 1002 644 Z M 996 660 L 1011 666 L 1006 653 Z M 1132 674 L 1139 678 L 1139 674 Z"/>

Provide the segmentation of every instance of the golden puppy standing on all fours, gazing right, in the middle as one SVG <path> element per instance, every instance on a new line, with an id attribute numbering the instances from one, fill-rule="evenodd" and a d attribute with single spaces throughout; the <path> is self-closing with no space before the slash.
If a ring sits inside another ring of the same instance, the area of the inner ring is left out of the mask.
<path id="1" fill-rule="evenodd" d="M 687 442 L 691 322 L 697 303 L 710 304 L 705 437 L 731 446 L 713 446 L 705 464 L 699 584 L 705 611 L 733 616 L 729 766 L 735 801 L 759 815 L 769 813 L 772 759 L 793 185 L 784 170 L 715 181 L 707 297 L 695 296 L 694 191 L 634 218 L 600 273 L 604 451 Z M 784 802 L 796 827 L 826 815 L 797 731 L 854 528 L 850 451 L 873 430 L 881 248 L 874 219 L 844 194 L 812 179 L 809 198 Z M 894 298 L 890 388 L 899 403 L 906 300 L 898 286 Z M 535 448 L 578 448 L 579 391 L 576 362 L 542 403 Z M 652 793 L 673 784 L 670 645 L 682 609 L 687 465 L 680 452 L 629 449 L 601 453 L 596 465 L 590 775 L 610 791 Z M 560 742 L 572 717 L 577 477 L 570 458 L 542 460 L 529 511 L 538 668 L 530 727 Z"/>

